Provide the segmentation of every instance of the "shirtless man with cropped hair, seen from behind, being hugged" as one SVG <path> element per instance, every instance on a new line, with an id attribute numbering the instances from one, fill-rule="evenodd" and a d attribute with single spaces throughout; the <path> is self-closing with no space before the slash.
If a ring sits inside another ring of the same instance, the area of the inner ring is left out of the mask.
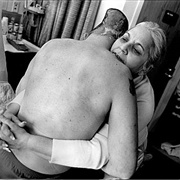
<path id="1" fill-rule="evenodd" d="M 41 48 L 17 88 L 18 94 L 25 90 L 18 117 L 27 122 L 31 134 L 53 139 L 91 139 L 107 120 L 107 173 L 129 178 L 136 167 L 136 103 L 129 69 L 109 51 L 115 40 L 112 29 L 121 26 L 113 24 L 118 13 L 109 10 L 102 26 L 84 41 L 54 39 Z M 41 174 L 69 169 L 33 151 L 12 152 Z"/>

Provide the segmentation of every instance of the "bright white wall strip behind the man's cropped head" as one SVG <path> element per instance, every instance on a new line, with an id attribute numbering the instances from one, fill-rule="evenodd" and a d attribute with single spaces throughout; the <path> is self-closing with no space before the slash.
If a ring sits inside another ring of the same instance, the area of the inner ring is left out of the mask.
<path id="1" fill-rule="evenodd" d="M 136 24 L 144 0 L 102 0 L 97 14 L 95 26 L 99 24 L 108 8 L 118 8 L 128 18 L 129 27 Z"/>

